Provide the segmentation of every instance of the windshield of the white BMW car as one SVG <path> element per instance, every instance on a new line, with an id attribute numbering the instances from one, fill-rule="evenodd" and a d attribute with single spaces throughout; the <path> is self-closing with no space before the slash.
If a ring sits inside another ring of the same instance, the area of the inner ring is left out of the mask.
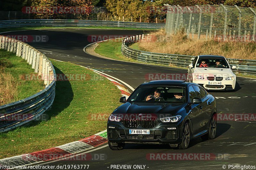
<path id="1" fill-rule="evenodd" d="M 229 69 L 228 63 L 225 59 L 216 58 L 199 58 L 196 67 Z"/>

